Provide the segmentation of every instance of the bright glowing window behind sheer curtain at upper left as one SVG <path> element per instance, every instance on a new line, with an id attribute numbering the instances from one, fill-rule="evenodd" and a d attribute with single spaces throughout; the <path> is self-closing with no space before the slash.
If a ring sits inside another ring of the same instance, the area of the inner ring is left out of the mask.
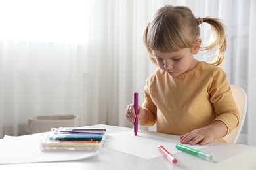
<path id="1" fill-rule="evenodd" d="M 0 40 L 85 44 L 89 1 L 0 0 Z"/>

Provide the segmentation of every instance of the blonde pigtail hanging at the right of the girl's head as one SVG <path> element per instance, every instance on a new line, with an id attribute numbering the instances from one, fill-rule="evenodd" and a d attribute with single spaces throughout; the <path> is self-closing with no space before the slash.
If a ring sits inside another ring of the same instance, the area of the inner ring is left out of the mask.
<path id="1" fill-rule="evenodd" d="M 215 18 L 203 18 L 211 26 L 213 42 L 209 46 L 202 47 L 202 50 L 213 50 L 217 48 L 217 57 L 210 63 L 219 66 L 224 61 L 224 52 L 226 50 L 226 31 L 223 23 Z"/>

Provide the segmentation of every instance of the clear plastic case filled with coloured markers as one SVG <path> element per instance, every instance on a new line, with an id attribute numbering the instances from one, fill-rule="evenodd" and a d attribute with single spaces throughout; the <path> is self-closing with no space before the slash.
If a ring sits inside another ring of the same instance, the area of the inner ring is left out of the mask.
<path id="1" fill-rule="evenodd" d="M 46 150 L 99 150 L 106 129 L 85 129 L 81 127 L 52 128 L 52 133 L 40 141 L 40 148 Z"/>

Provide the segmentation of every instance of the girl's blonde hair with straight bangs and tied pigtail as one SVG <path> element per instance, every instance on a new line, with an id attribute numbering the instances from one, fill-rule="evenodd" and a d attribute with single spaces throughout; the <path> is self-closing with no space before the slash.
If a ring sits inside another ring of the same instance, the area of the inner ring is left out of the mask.
<path id="1" fill-rule="evenodd" d="M 226 32 L 222 22 L 216 18 L 203 18 L 211 26 L 213 42 L 202 50 L 217 48 L 213 65 L 221 65 L 226 50 Z M 198 20 L 188 7 L 166 5 L 161 7 L 153 20 L 144 29 L 143 41 L 153 63 L 156 59 L 152 50 L 177 52 L 182 48 L 192 48 L 200 36 Z"/>

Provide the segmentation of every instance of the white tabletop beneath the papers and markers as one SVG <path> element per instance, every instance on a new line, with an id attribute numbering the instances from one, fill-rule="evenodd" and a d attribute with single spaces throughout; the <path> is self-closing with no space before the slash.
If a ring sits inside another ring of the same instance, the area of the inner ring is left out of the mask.
<path id="1" fill-rule="evenodd" d="M 107 133 L 133 131 L 133 129 L 131 128 L 108 126 L 104 124 L 86 127 L 106 128 Z M 143 130 L 139 130 L 139 132 L 143 132 Z M 167 135 L 155 132 L 150 132 L 150 134 L 160 137 L 168 137 L 171 139 L 179 139 L 179 137 L 175 135 Z M 3 139 L 0 139 L 0 144 L 2 141 Z M 205 161 L 197 158 L 196 156 L 180 152 L 174 154 L 179 162 L 176 165 L 173 165 L 163 156 L 147 160 L 139 158 L 137 156 L 132 156 L 123 152 L 118 152 L 116 150 L 102 147 L 100 150 L 100 154 L 84 160 L 54 163 L 22 163 L 0 165 L 0 169 L 256 169 L 255 146 L 220 142 L 213 142 L 207 146 L 208 147 L 203 148 L 202 151 L 213 153 L 215 156 L 215 161 L 213 162 Z"/>

